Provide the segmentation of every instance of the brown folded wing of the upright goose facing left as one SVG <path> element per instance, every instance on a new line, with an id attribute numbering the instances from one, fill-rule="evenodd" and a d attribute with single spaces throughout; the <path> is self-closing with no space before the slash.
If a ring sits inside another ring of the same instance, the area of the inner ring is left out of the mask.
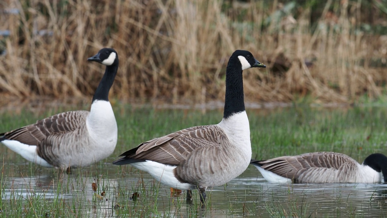
<path id="1" fill-rule="evenodd" d="M 3 133 L 4 139 L 16 140 L 27 145 L 36 145 L 51 135 L 61 135 L 84 125 L 89 111 L 68 111 L 36 121 L 35 124 Z"/>

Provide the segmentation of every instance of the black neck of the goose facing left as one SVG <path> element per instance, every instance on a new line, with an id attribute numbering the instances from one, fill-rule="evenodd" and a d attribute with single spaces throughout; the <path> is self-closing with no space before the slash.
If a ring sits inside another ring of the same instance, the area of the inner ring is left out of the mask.
<path id="1" fill-rule="evenodd" d="M 109 90 L 113 85 L 114 78 L 116 77 L 116 74 L 117 74 L 117 70 L 118 70 L 118 64 L 106 66 L 105 74 L 103 74 L 103 77 L 99 82 L 97 90 L 94 93 L 92 102 L 94 102 L 94 100 L 109 101 L 108 99 Z"/>

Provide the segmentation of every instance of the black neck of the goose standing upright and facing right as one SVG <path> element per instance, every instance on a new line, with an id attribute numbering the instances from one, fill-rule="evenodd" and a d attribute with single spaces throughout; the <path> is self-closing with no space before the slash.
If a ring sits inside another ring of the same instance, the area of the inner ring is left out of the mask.
<path id="1" fill-rule="evenodd" d="M 243 98 L 243 77 L 240 64 L 230 64 L 226 68 L 226 97 L 224 99 L 223 118 L 245 111 L 245 101 Z M 239 63 L 239 61 L 237 62 Z"/>

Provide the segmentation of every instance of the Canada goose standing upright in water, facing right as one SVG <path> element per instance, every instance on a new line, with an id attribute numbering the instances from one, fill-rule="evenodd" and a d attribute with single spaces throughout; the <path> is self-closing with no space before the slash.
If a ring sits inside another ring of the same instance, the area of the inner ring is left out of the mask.
<path id="1" fill-rule="evenodd" d="M 219 124 L 195 126 L 141 143 L 113 162 L 131 164 L 159 182 L 175 189 L 199 189 L 204 205 L 205 190 L 223 185 L 246 170 L 251 158 L 250 126 L 243 100 L 242 71 L 266 67 L 253 55 L 236 50 L 226 68 L 226 96 Z"/>

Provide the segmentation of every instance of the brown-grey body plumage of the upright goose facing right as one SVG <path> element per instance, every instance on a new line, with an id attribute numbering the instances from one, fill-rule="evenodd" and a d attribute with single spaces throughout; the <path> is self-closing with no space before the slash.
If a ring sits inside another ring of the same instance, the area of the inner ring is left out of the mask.
<path id="1" fill-rule="evenodd" d="M 243 172 L 236 165 L 250 157 L 251 151 L 250 156 L 248 155 L 248 152 L 245 154 L 238 146 L 231 144 L 218 125 L 205 125 L 149 140 L 121 156 L 125 156 L 123 159 L 177 165 L 175 176 L 180 182 L 213 187 L 222 185 L 231 179 L 229 177 L 235 178 Z M 241 168 L 247 164 L 248 161 L 241 164 Z"/>

